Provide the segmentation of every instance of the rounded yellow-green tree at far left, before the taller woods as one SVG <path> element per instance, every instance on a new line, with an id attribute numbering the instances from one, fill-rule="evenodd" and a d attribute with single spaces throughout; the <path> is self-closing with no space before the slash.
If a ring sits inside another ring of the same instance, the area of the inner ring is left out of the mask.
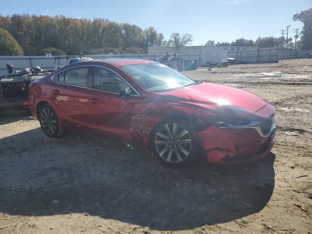
<path id="1" fill-rule="evenodd" d="M 0 28 L 0 55 L 23 55 L 23 49 L 16 39 L 5 29 Z"/>

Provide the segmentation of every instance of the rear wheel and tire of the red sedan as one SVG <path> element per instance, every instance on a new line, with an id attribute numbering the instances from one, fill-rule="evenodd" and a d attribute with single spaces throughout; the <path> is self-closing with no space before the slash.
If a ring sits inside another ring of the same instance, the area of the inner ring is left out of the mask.
<path id="1" fill-rule="evenodd" d="M 39 110 L 39 122 L 42 131 L 48 137 L 60 137 L 64 131 L 60 126 L 59 118 L 55 110 L 49 104 L 44 104 Z"/>

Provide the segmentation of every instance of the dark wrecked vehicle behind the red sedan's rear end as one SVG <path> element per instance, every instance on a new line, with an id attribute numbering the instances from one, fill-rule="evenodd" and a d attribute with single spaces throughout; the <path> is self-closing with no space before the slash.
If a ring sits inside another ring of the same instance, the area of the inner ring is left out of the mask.
<path id="1" fill-rule="evenodd" d="M 25 68 L 23 71 L 0 76 L 0 115 L 30 112 L 28 86 L 51 71 Z"/>

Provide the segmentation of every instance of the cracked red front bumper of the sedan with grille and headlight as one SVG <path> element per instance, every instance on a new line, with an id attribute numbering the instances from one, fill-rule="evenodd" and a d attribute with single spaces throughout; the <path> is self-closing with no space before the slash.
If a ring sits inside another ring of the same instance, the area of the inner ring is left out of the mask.
<path id="1" fill-rule="evenodd" d="M 262 114 L 264 111 L 259 112 Z M 265 124 L 265 125 L 263 125 Z M 209 163 L 240 164 L 268 155 L 275 141 L 275 115 L 243 126 L 212 125 L 198 132 Z"/>

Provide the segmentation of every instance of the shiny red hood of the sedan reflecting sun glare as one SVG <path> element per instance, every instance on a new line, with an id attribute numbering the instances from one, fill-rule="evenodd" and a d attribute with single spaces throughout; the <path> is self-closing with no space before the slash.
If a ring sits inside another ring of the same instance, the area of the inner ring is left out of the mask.
<path id="1" fill-rule="evenodd" d="M 250 92 L 214 83 L 199 83 L 182 89 L 161 92 L 167 102 L 186 103 L 228 114 L 250 114 L 269 101 Z M 245 116 L 245 115 L 244 115 Z"/>

